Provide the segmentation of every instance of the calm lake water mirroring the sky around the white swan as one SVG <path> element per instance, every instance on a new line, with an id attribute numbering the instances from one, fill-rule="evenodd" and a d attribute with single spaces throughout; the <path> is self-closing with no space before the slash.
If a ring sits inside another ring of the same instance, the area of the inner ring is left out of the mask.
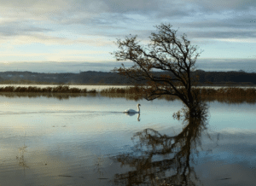
<path id="1" fill-rule="evenodd" d="M 139 117 L 122 113 L 137 103 Z M 256 183 L 255 104 L 210 102 L 205 129 L 172 118 L 178 100 L 0 96 L 0 106 L 1 186 Z"/>

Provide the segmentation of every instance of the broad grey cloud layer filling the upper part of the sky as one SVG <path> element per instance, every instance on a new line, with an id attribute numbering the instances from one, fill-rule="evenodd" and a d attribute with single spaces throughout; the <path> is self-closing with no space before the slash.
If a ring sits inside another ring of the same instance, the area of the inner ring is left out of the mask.
<path id="1" fill-rule="evenodd" d="M 0 0 L 0 7 L 13 8 L 13 11 L 19 13 L 16 16 L 21 15 L 20 20 L 23 19 L 21 22 L 16 20 L 0 26 L 0 33 L 4 36 L 56 32 L 60 26 L 66 26 L 70 32 L 105 36 L 114 41 L 115 38 L 124 38 L 130 33 L 137 34 L 139 39 L 148 39 L 151 32 L 156 32 L 153 26 L 161 22 L 170 22 L 176 28 L 182 26 L 189 38 L 190 36 L 194 38 L 255 38 L 253 29 L 256 22 L 253 21 L 256 20 L 253 19 L 253 15 L 250 15 L 251 13 L 246 14 L 246 11 L 256 8 L 256 1 L 250 0 L 56 0 L 53 4 L 49 0 L 44 3 L 30 0 L 24 0 L 22 3 L 17 0 Z M 21 13 L 26 13 L 24 18 Z M 213 13 L 222 17 L 227 15 L 227 17 L 222 20 L 214 19 Z M 5 14 L 6 12 L 2 14 L 3 17 Z M 46 20 L 42 18 L 43 25 L 48 23 L 46 22 L 48 20 L 51 24 L 55 24 L 52 30 L 28 23 L 33 19 L 36 20 L 36 24 L 41 23 L 37 19 L 41 19 L 42 15 L 47 18 Z M 141 15 L 142 18 L 137 18 L 136 15 Z M 211 18 L 203 20 L 204 15 Z M 83 25 L 84 29 L 74 30 L 75 26 L 79 25 Z M 143 30 L 142 26 L 147 29 Z M 201 28 L 204 32 L 200 30 Z"/>

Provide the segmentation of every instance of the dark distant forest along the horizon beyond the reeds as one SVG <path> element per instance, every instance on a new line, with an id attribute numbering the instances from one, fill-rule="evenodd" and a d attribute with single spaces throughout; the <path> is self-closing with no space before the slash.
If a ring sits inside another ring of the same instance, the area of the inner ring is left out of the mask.
<path id="1" fill-rule="evenodd" d="M 160 72 L 155 75 L 160 76 Z M 243 71 L 205 72 L 196 70 L 191 73 L 199 76 L 199 85 L 255 85 L 256 73 Z M 172 73 L 169 75 L 172 76 Z M 141 82 L 142 84 L 144 82 Z M 0 84 L 131 84 L 131 79 L 117 73 L 87 71 L 81 73 L 0 73 Z"/>

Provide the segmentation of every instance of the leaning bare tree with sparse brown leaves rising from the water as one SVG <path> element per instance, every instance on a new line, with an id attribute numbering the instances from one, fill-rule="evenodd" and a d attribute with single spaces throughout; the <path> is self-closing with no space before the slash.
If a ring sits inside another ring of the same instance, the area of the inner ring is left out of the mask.
<path id="1" fill-rule="evenodd" d="M 122 64 L 122 67 L 114 68 L 113 72 L 130 77 L 136 82 L 145 81 L 143 96 L 147 100 L 154 100 L 162 95 L 177 96 L 189 110 L 193 110 L 197 104 L 196 94 L 199 92 L 192 90 L 196 81 L 191 72 L 202 51 L 198 53 L 197 47 L 190 45 L 186 34 L 178 39 L 177 30 L 173 30 L 170 24 L 155 27 L 158 33 L 151 33 L 151 41 L 147 46 L 139 44 L 137 36 L 117 40 L 119 50 L 112 53 L 116 60 L 130 60 L 134 65 L 126 68 Z M 156 70 L 166 73 L 157 75 Z"/>

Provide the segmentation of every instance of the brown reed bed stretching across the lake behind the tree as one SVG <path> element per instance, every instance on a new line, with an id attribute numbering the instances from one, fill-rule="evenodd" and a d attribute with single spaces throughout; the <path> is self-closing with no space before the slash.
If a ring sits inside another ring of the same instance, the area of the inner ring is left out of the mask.
<path id="1" fill-rule="evenodd" d="M 227 102 L 227 103 L 254 103 L 256 102 L 256 89 L 254 88 L 200 88 L 199 93 L 201 98 L 207 102 Z M 125 97 L 127 100 L 142 100 L 143 99 L 143 90 L 140 87 L 127 87 L 127 88 L 108 88 L 104 90 L 86 90 L 78 88 L 69 88 L 67 85 L 59 85 L 56 87 L 46 87 L 39 88 L 35 86 L 28 87 L 15 87 L 15 86 L 6 86 L 0 87 L 0 93 L 4 96 L 15 97 L 15 96 L 47 96 L 47 97 L 57 97 L 59 99 L 68 99 L 73 96 L 86 96 L 86 93 L 90 93 L 91 96 L 96 96 L 96 93 L 100 93 L 101 96 L 108 96 L 111 98 L 116 97 Z M 16 93 L 16 94 L 9 94 Z M 18 94 L 22 93 L 22 94 Z M 34 94 L 30 94 L 34 93 Z M 62 94 L 61 93 L 66 93 Z M 59 95 L 58 95 L 59 94 Z M 178 99 L 176 96 L 160 96 L 159 99 L 165 99 L 166 101 L 173 101 Z"/>

